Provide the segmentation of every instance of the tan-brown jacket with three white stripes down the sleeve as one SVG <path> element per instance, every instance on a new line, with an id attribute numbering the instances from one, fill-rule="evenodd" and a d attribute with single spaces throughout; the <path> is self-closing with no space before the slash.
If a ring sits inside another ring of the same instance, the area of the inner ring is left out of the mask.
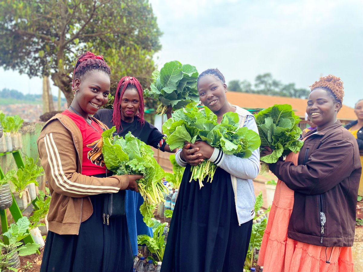
<path id="1" fill-rule="evenodd" d="M 82 133 L 66 115 L 57 114 L 50 119 L 37 144 L 52 194 L 47 217 L 50 231 L 78 234 L 81 222 L 93 213 L 89 195 L 117 193 L 129 186 L 128 175 L 107 178 L 82 175 Z"/>

